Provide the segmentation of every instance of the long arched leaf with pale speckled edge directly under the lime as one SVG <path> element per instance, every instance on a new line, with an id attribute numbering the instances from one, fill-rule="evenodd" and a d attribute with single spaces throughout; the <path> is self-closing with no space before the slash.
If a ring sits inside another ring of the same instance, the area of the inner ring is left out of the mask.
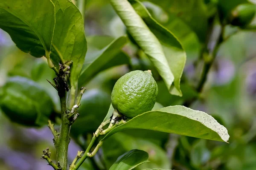
<path id="1" fill-rule="evenodd" d="M 212 116 L 184 106 L 169 106 L 145 112 L 111 130 L 102 140 L 125 129 L 149 129 L 201 139 L 227 142 L 227 129 Z"/>

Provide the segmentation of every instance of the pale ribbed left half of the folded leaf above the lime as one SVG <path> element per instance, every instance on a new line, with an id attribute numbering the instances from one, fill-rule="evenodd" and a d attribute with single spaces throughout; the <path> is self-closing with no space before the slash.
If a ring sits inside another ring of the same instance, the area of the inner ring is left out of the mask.
<path id="1" fill-rule="evenodd" d="M 111 0 L 111 5 L 122 19 L 128 32 L 147 54 L 168 88 L 171 88 L 174 75 L 168 65 L 162 45 L 128 0 Z"/>

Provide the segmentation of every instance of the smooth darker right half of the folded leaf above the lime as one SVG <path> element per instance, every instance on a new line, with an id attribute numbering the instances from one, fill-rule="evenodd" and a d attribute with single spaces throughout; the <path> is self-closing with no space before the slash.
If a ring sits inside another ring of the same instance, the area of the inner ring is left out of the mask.
<path id="1" fill-rule="evenodd" d="M 186 52 L 184 51 L 180 41 L 171 31 L 161 26 L 153 17 L 151 17 L 151 14 L 145 6 L 143 6 L 143 3 L 138 0 L 129 0 L 129 2 L 163 46 L 165 57 L 168 61 L 172 74 L 174 75 L 173 85 L 171 87 L 167 86 L 169 88 L 169 92 L 177 96 L 182 96 L 180 91 L 180 78 L 186 63 Z"/>

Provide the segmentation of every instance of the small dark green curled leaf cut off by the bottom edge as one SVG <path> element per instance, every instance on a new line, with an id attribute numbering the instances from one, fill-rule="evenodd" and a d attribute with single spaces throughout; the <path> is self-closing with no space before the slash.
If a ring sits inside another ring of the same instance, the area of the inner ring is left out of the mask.
<path id="1" fill-rule="evenodd" d="M 148 153 L 134 149 L 119 156 L 109 170 L 132 170 L 145 162 L 148 162 Z"/>

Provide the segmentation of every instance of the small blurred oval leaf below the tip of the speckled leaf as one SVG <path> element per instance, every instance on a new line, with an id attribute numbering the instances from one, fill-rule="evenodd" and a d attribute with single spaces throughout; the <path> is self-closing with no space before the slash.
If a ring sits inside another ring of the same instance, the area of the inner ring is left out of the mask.
<path id="1" fill-rule="evenodd" d="M 206 140 L 198 140 L 192 146 L 190 153 L 191 164 L 194 167 L 200 168 L 210 159 L 211 153 L 206 147 Z"/>

